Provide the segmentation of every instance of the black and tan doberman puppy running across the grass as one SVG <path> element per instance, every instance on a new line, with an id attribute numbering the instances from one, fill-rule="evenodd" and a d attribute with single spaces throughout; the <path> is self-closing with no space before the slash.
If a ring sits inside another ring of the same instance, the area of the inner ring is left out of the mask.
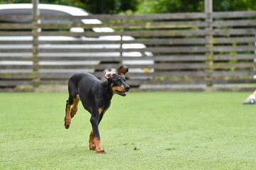
<path id="1" fill-rule="evenodd" d="M 101 148 L 98 126 L 111 104 L 111 98 L 114 94 L 126 96 L 126 92 L 130 89 L 126 84 L 126 72 L 128 67 L 122 65 L 118 69 L 118 74 L 106 72 L 106 81 L 100 81 L 92 74 L 82 72 L 74 74 L 68 81 L 69 99 L 66 104 L 65 128 L 69 128 L 71 118 L 77 113 L 77 105 L 81 100 L 84 108 L 91 113 L 92 130 L 89 135 L 89 148 L 95 150 L 97 154 L 106 154 Z"/>

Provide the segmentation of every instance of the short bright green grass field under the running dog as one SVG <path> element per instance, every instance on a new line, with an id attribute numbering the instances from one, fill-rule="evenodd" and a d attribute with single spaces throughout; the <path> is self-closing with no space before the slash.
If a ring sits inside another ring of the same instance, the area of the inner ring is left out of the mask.
<path id="1" fill-rule="evenodd" d="M 0 169 L 256 169 L 256 106 L 248 92 L 114 96 L 99 126 L 107 154 L 89 150 L 79 104 L 67 94 L 0 94 Z"/>

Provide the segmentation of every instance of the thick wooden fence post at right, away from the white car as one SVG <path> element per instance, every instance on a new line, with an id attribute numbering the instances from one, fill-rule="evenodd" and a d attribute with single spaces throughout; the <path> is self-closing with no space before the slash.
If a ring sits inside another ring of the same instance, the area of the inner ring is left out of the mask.
<path id="1" fill-rule="evenodd" d="M 206 13 L 206 47 L 208 47 L 208 52 L 206 52 L 207 60 L 207 72 L 208 76 L 206 77 L 206 91 L 212 91 L 213 88 L 213 0 L 204 0 L 204 13 Z"/>

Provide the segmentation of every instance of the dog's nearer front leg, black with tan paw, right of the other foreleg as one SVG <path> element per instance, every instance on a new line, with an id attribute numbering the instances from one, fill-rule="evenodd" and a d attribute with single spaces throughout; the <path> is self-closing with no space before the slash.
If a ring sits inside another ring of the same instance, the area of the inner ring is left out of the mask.
<path id="1" fill-rule="evenodd" d="M 94 134 L 94 145 L 97 154 L 106 154 L 106 151 L 101 148 L 101 137 L 99 136 L 99 111 L 93 111 L 91 114 L 91 126 Z"/>

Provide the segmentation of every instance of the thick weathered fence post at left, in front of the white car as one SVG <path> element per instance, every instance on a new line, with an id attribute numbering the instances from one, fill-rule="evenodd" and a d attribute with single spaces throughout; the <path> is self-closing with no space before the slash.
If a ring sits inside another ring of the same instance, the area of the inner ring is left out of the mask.
<path id="1" fill-rule="evenodd" d="M 38 57 L 38 21 L 39 21 L 39 0 L 33 0 L 33 87 L 36 88 L 39 86 L 40 78 L 39 78 L 39 57 Z"/>

